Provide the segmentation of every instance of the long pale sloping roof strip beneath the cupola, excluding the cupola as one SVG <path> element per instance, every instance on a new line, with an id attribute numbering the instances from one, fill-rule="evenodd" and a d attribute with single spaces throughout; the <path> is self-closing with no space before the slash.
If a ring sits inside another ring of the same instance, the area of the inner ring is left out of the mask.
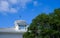
<path id="1" fill-rule="evenodd" d="M 0 33 L 24 33 L 26 31 L 25 29 L 16 30 L 15 28 L 0 28 Z"/>

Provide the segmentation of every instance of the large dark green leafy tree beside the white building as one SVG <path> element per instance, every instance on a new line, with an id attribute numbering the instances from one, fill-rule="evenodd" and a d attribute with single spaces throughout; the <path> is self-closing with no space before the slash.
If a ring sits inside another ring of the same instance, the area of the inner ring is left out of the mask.
<path id="1" fill-rule="evenodd" d="M 60 38 L 60 8 L 34 18 L 24 38 Z"/>

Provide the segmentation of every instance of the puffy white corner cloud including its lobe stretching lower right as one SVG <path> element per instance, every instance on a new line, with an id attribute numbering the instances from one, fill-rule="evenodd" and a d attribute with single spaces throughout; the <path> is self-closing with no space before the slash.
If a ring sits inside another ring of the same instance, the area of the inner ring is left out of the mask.
<path id="1" fill-rule="evenodd" d="M 10 7 L 10 3 L 8 1 L 5 0 L 1 0 L 0 1 L 0 12 L 2 12 L 3 14 L 8 13 L 16 13 L 17 9 Z"/>

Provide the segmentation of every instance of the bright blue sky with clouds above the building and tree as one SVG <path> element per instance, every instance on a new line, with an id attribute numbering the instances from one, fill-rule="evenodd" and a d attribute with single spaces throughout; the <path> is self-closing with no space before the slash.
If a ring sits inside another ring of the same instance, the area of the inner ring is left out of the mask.
<path id="1" fill-rule="evenodd" d="M 30 24 L 38 14 L 56 8 L 60 8 L 60 0 L 0 0 L 0 28 L 13 27 L 16 20 Z"/>

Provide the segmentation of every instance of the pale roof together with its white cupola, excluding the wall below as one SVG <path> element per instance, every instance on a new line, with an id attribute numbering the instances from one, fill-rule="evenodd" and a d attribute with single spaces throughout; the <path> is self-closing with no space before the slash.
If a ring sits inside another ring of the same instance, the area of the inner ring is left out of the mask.
<path id="1" fill-rule="evenodd" d="M 27 29 L 19 29 L 19 25 L 26 25 L 26 22 L 24 20 L 16 20 L 15 26 L 12 28 L 0 28 L 0 33 L 24 33 L 27 31 Z"/>

